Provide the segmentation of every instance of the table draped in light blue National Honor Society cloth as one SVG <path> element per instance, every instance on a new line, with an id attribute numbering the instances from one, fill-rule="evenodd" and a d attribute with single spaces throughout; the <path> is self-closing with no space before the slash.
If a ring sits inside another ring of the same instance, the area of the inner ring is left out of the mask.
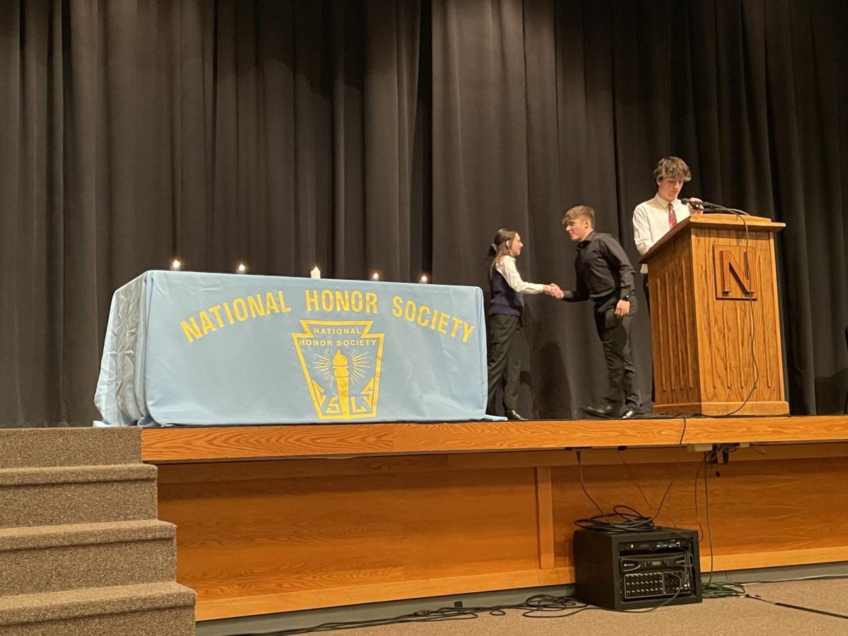
<path id="1" fill-rule="evenodd" d="M 148 271 L 112 298 L 105 425 L 485 417 L 478 287 Z"/>

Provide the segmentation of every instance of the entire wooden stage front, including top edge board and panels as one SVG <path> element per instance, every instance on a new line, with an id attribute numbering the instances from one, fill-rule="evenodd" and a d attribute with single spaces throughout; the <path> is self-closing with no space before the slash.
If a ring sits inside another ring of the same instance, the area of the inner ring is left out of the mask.
<path id="1" fill-rule="evenodd" d="M 673 481 L 656 522 L 705 572 L 848 561 L 848 416 L 151 428 L 142 457 L 198 621 L 571 583 L 581 473 L 646 516 Z"/>

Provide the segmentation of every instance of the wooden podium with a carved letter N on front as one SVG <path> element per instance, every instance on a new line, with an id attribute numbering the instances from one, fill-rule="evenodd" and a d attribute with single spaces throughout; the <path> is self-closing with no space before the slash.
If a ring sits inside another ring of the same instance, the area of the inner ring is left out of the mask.
<path id="1" fill-rule="evenodd" d="M 693 215 L 639 259 L 650 269 L 657 413 L 789 413 L 774 257 L 784 227 Z"/>

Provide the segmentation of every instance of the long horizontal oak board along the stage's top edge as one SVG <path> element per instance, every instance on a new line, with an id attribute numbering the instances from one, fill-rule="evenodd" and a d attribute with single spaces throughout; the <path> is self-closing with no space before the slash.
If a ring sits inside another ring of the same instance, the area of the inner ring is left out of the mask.
<path id="1" fill-rule="evenodd" d="M 142 459 L 265 460 L 490 450 L 848 440 L 848 416 L 149 428 Z"/>

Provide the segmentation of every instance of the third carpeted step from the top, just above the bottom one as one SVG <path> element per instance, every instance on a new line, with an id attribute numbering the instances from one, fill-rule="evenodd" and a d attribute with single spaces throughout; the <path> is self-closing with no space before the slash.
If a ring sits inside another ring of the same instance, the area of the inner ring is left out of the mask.
<path id="1" fill-rule="evenodd" d="M 173 581 L 176 526 L 158 520 L 0 529 L 3 594 Z"/>

